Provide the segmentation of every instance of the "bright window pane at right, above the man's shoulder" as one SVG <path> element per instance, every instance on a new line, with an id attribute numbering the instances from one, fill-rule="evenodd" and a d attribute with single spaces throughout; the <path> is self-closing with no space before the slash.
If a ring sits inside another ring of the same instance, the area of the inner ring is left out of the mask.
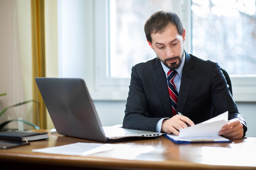
<path id="1" fill-rule="evenodd" d="M 193 55 L 229 74 L 256 74 L 255 0 L 192 0 Z"/>

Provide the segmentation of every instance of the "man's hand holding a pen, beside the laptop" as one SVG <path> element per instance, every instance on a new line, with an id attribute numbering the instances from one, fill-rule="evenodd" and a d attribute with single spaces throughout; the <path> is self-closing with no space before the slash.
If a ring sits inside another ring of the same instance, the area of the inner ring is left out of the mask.
<path id="1" fill-rule="evenodd" d="M 188 123 L 190 126 L 195 125 L 194 122 L 188 117 L 182 115 L 175 115 L 170 119 L 166 119 L 163 121 L 161 131 L 168 134 L 173 133 L 175 135 L 179 135 L 180 129 L 188 127 L 186 123 Z"/>

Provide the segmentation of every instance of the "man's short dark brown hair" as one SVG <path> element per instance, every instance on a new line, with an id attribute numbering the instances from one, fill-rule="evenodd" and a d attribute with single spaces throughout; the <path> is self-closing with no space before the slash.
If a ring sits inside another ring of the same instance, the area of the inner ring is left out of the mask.
<path id="1" fill-rule="evenodd" d="M 161 33 L 169 24 L 174 24 L 178 33 L 183 34 L 183 25 L 176 13 L 172 11 L 156 11 L 153 13 L 144 25 L 147 40 L 152 43 L 151 34 Z"/>

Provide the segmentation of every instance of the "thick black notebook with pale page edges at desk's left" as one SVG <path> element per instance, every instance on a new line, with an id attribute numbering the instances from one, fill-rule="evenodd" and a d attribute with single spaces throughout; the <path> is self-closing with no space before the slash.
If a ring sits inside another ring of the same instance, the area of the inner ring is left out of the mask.
<path id="1" fill-rule="evenodd" d="M 35 141 L 40 139 L 49 139 L 48 132 L 33 132 L 25 130 L 11 130 L 0 132 L 0 140 L 6 141 Z"/>

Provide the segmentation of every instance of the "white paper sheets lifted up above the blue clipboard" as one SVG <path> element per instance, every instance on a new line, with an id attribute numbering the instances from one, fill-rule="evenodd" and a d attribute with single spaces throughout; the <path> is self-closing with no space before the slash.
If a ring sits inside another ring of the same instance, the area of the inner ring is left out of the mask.
<path id="1" fill-rule="evenodd" d="M 218 135 L 222 126 L 227 124 L 228 111 L 213 117 L 207 121 L 203 121 L 195 126 L 190 126 L 180 130 L 179 137 L 197 137 L 197 136 L 211 136 Z"/>

